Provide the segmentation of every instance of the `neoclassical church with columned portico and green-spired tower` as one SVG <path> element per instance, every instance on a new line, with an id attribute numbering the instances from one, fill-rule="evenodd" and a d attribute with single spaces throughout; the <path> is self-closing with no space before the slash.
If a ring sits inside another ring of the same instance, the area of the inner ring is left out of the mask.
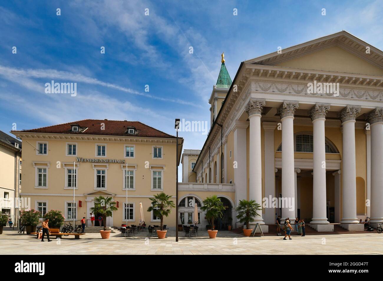
<path id="1" fill-rule="evenodd" d="M 185 196 L 231 198 L 233 227 L 242 199 L 263 203 L 263 231 L 277 215 L 319 231 L 383 223 L 381 50 L 341 31 L 242 62 L 232 83 L 226 73 L 223 59 Z"/>

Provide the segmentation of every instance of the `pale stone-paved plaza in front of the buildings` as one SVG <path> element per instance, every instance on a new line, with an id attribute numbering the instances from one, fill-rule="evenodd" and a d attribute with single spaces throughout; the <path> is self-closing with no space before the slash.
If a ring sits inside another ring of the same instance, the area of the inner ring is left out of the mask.
<path id="1" fill-rule="evenodd" d="M 219 231 L 216 239 L 209 239 L 206 231 L 199 237 L 183 237 L 175 242 L 175 232 L 168 231 L 165 239 L 147 238 L 146 233 L 136 237 L 121 237 L 120 232 L 111 233 L 110 239 L 101 239 L 99 233 L 73 238 L 41 242 L 36 236 L 18 234 L 5 228 L 0 235 L 3 255 L 264 255 L 264 254 L 315 254 L 315 255 L 380 255 L 383 254 L 383 234 L 329 234 L 292 237 L 281 236 L 244 237 L 229 231 Z M 70 237 L 70 236 L 69 236 Z M 281 247 L 283 245 L 283 248 Z M 283 252 L 281 252 L 283 249 Z"/>

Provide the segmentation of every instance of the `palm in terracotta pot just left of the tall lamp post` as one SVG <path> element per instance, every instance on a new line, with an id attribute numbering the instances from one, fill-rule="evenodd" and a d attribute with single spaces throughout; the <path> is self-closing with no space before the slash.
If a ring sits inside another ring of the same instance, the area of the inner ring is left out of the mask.
<path id="1" fill-rule="evenodd" d="M 147 208 L 148 212 L 153 211 L 153 214 L 160 218 L 160 230 L 157 230 L 157 236 L 159 239 L 164 239 L 166 236 L 166 230 L 164 229 L 164 216 L 169 216 L 172 212 L 169 208 L 175 208 L 174 202 L 170 200 L 171 195 L 167 195 L 164 192 L 154 195 L 154 198 L 149 198 L 152 204 Z"/>

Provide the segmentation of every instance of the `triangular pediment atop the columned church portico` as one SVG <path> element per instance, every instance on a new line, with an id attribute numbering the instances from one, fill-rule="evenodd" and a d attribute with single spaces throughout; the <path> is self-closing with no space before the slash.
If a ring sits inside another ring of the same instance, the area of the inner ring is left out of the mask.
<path id="1" fill-rule="evenodd" d="M 383 52 L 346 31 L 282 49 L 279 53 L 253 58 L 245 63 L 383 76 Z"/>

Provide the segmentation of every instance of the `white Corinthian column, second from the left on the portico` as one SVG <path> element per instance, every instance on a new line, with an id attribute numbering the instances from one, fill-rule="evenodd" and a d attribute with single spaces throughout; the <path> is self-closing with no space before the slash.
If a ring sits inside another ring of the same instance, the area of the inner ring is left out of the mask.
<path id="1" fill-rule="evenodd" d="M 284 101 L 278 108 L 282 122 L 282 197 L 290 206 L 282 206 L 282 218 L 295 218 L 295 172 L 294 172 L 294 127 L 293 120 L 297 101 Z M 283 201 L 283 200 L 282 200 Z"/>

